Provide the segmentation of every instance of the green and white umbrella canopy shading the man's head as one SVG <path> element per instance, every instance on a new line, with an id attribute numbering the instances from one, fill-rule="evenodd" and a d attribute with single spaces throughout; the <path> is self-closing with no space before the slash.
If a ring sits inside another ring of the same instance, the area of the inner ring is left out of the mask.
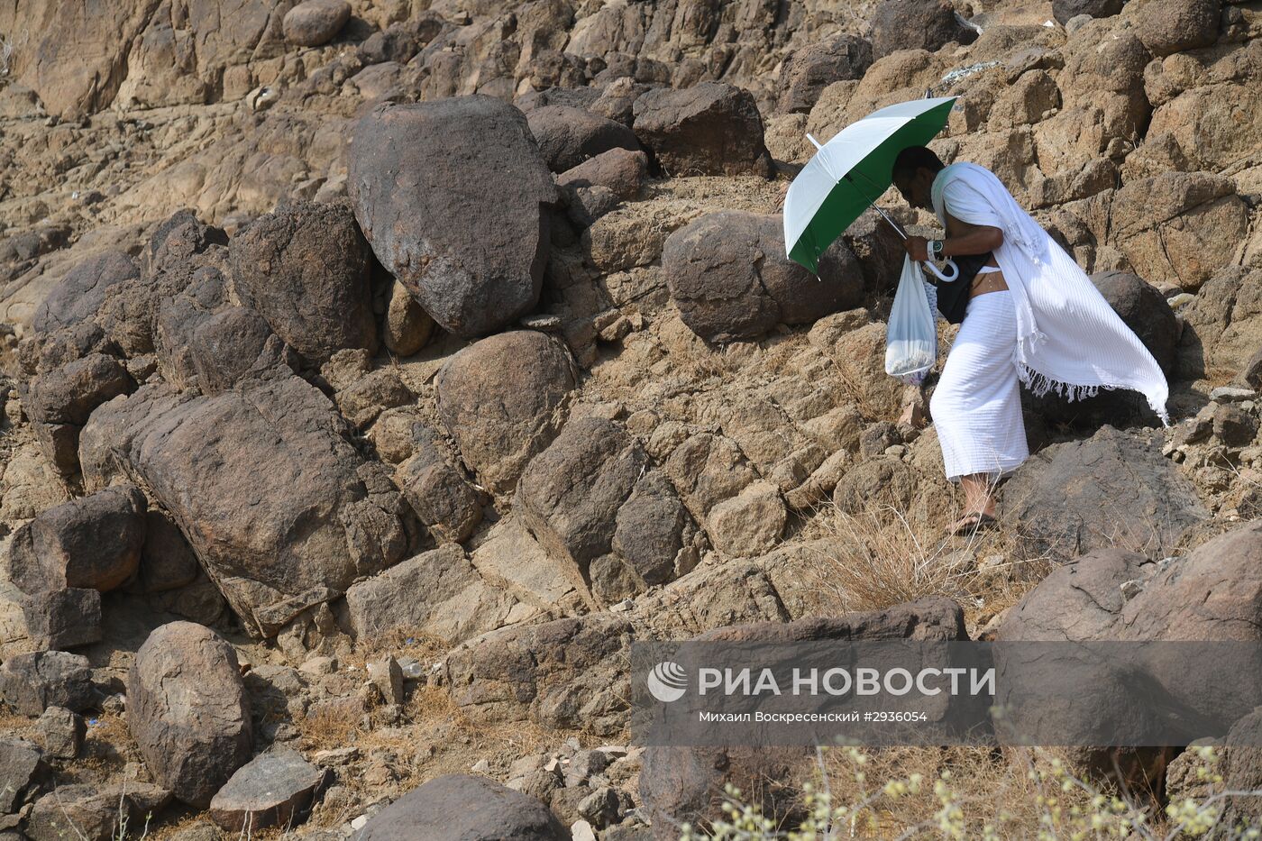
<path id="1" fill-rule="evenodd" d="M 891 105 L 819 146 L 785 196 L 789 259 L 817 273 L 819 255 L 890 188 L 899 153 L 933 140 L 954 102 L 945 96 Z"/>

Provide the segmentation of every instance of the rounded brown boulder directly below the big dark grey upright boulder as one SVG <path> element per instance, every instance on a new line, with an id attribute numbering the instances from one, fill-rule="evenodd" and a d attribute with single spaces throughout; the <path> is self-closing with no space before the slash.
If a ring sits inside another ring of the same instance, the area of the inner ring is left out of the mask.
<path id="1" fill-rule="evenodd" d="M 481 484 L 507 492 L 560 429 L 575 384 L 574 362 L 560 342 L 530 330 L 500 333 L 439 369 L 438 414 Z"/>

